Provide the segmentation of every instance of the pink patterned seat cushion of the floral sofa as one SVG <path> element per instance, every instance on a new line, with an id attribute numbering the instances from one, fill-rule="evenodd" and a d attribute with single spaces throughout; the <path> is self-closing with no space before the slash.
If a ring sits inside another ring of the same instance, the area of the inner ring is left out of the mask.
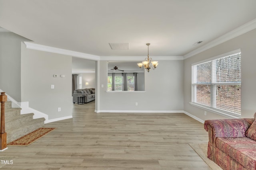
<path id="1" fill-rule="evenodd" d="M 255 170 L 256 141 L 247 137 L 218 137 L 216 146 L 248 170 Z"/>

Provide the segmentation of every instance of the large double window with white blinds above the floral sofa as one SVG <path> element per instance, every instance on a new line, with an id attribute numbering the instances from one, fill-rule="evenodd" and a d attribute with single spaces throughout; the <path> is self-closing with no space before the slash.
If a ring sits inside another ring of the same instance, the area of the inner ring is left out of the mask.
<path id="1" fill-rule="evenodd" d="M 241 53 L 192 65 L 192 103 L 241 115 Z"/>

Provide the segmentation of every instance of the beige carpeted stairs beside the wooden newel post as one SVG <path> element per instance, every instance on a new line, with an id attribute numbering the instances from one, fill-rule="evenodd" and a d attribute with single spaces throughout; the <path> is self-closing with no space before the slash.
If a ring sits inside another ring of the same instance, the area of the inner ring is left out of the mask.
<path id="1" fill-rule="evenodd" d="M 21 115 L 20 110 L 21 108 L 12 108 L 12 102 L 5 102 L 7 144 L 44 126 L 44 118 L 33 119 L 34 113 Z"/>

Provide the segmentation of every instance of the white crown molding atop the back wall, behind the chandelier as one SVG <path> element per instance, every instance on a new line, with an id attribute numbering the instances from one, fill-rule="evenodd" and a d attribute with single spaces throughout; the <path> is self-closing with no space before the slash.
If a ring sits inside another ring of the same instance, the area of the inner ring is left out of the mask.
<path id="1" fill-rule="evenodd" d="M 144 61 L 145 56 L 100 56 L 102 61 Z M 153 61 L 183 60 L 183 56 L 150 56 Z"/>

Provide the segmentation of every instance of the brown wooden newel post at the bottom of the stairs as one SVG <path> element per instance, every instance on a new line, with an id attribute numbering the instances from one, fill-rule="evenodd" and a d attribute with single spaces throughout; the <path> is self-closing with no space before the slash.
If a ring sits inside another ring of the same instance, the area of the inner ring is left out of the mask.
<path id="1" fill-rule="evenodd" d="M 1 102 L 1 124 L 0 124 L 0 150 L 6 149 L 6 132 L 5 132 L 5 118 L 4 118 L 4 104 L 7 101 L 7 96 L 5 92 L 1 92 L 0 102 Z"/>

